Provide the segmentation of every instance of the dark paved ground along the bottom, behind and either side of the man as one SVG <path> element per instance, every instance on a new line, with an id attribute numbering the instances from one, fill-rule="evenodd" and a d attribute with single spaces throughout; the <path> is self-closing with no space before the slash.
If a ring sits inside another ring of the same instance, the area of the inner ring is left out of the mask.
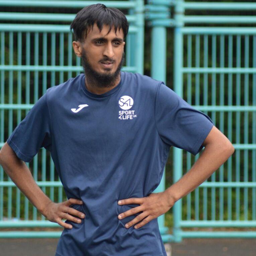
<path id="1" fill-rule="evenodd" d="M 0 239 L 0 255 L 54 256 L 57 242 L 58 239 Z M 166 244 L 166 250 L 170 256 L 255 256 L 256 239 L 183 239 L 179 244 Z"/>

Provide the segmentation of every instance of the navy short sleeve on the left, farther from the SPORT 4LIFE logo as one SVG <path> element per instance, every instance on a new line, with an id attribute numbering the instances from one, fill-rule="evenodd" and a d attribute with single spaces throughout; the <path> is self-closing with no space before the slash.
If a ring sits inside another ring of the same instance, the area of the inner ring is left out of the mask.
<path id="1" fill-rule="evenodd" d="M 17 125 L 7 143 L 25 162 L 30 162 L 40 148 L 51 149 L 51 117 L 46 93 Z"/>

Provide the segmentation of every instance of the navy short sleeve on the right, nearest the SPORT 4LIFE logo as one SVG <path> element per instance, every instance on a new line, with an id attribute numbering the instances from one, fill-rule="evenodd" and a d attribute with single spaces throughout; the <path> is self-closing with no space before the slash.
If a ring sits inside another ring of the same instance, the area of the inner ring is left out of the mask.
<path id="1" fill-rule="evenodd" d="M 193 155 L 201 151 L 214 126 L 209 116 L 193 108 L 163 82 L 157 88 L 155 119 L 163 142 Z"/>

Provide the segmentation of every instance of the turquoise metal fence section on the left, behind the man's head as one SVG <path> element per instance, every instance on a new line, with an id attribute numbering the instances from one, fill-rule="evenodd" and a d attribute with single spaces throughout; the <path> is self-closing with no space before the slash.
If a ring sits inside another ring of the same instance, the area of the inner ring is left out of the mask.
<path id="1" fill-rule="evenodd" d="M 83 7 L 99 1 L 1 1 L 0 12 L 0 147 L 33 104 L 50 86 L 83 72 L 80 58 L 73 53 L 69 24 Z M 123 71 L 143 73 L 144 3 L 100 1 L 126 12 L 126 65 Z M 18 8 L 27 8 L 20 12 Z M 29 8 L 28 8 L 29 7 Z M 40 7 L 40 13 L 36 8 Z M 63 14 L 60 13 L 60 8 Z M 74 10 L 68 14 L 65 8 Z M 6 10 L 6 9 L 5 9 Z M 18 11 L 16 11 L 18 10 Z M 41 10 L 45 10 L 42 13 Z M 50 23 L 50 24 L 49 24 Z M 13 97 L 17 95 L 17 97 Z M 41 148 L 26 163 L 42 190 L 55 202 L 66 200 L 50 152 Z M 32 214 L 31 214 L 32 212 Z M 0 166 L 0 228 L 60 227 L 45 220 Z M 1 237 L 59 237 L 61 231 L 1 231 Z"/>

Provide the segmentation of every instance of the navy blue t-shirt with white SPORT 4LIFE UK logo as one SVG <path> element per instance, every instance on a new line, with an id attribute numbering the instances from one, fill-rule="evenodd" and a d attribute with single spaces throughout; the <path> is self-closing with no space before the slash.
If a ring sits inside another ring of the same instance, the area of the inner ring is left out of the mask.
<path id="1" fill-rule="evenodd" d="M 64 229 L 56 256 L 166 256 L 157 219 L 125 228 L 141 212 L 118 219 L 159 185 L 171 146 L 196 155 L 213 126 L 162 81 L 121 71 L 103 94 L 85 87 L 85 75 L 47 89 L 7 143 L 30 162 L 41 147 L 51 152 L 71 207 L 84 212 Z"/>

